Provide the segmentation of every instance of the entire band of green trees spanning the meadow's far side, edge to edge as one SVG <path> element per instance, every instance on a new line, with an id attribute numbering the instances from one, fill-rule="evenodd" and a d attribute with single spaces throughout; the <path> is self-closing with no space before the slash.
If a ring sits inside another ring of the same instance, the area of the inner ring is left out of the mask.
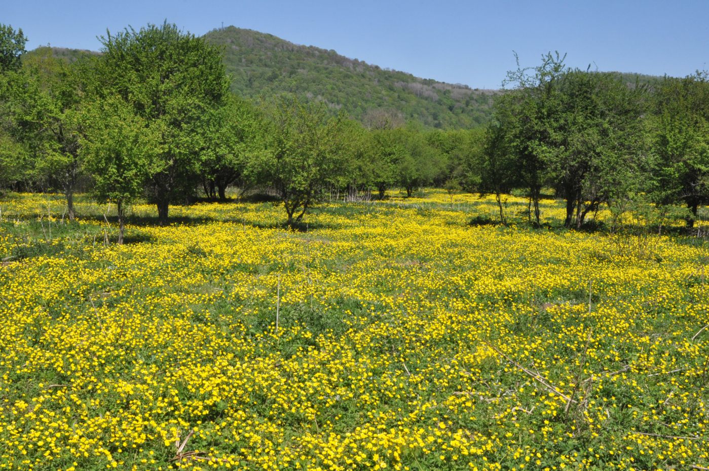
<path id="1" fill-rule="evenodd" d="M 67 214 L 79 189 L 125 210 L 230 186 L 277 194 L 294 227 L 325 194 L 384 198 L 425 185 L 495 194 L 502 223 L 513 190 L 540 225 L 544 189 L 566 201 L 566 226 L 602 205 L 686 206 L 689 226 L 709 197 L 707 74 L 649 87 L 618 74 L 572 70 L 563 57 L 508 74 L 483 129 L 439 131 L 395 111 L 367 124 L 332 116 L 322 101 L 277 96 L 253 102 L 229 92 L 223 51 L 164 23 L 101 38 L 101 55 L 71 62 L 26 55 L 21 30 L 0 26 L 0 186 L 60 190 Z"/>

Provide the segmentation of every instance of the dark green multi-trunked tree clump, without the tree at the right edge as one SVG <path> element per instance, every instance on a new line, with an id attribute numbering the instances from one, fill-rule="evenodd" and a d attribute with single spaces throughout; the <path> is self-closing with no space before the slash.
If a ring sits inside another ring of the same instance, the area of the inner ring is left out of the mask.
<path id="1" fill-rule="evenodd" d="M 523 184 L 538 226 L 541 189 L 549 184 L 566 199 L 565 225 L 580 228 L 601 204 L 642 190 L 650 170 L 642 121 L 646 87 L 628 87 L 617 74 L 571 70 L 558 53 L 508 78 L 516 88 L 496 100 L 486 162 L 496 194 Z M 510 169 L 519 182 L 510 179 Z"/>

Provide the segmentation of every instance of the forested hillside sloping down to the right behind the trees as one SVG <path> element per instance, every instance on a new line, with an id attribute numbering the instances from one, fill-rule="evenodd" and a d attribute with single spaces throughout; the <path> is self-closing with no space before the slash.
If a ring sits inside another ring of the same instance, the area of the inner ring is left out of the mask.
<path id="1" fill-rule="evenodd" d="M 206 39 L 225 48 L 234 92 L 256 98 L 282 92 L 322 99 L 364 123 L 381 113 L 434 128 L 480 126 L 491 116 L 493 90 L 471 89 L 384 70 L 314 46 L 229 26 Z"/>

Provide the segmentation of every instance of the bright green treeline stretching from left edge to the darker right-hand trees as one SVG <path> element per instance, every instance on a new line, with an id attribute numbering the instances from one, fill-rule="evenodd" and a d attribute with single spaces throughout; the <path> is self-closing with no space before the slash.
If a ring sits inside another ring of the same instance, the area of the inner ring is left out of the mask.
<path id="1" fill-rule="evenodd" d="M 332 189 L 384 196 L 443 182 L 475 135 L 401 127 L 386 110 L 364 128 L 318 101 L 240 99 L 221 50 L 167 23 L 108 33 L 101 55 L 72 61 L 26 55 L 9 26 L 2 35 L 0 184 L 60 190 L 69 219 L 79 189 L 116 204 L 122 228 L 135 199 L 164 224 L 170 204 L 225 199 L 236 184 L 275 192 L 295 226 Z"/>

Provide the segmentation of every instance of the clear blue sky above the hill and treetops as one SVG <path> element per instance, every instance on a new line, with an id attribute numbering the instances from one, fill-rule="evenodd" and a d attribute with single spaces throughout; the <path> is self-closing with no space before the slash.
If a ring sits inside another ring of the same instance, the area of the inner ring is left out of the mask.
<path id="1" fill-rule="evenodd" d="M 598 70 L 685 76 L 709 69 L 709 0 L 1 0 L 0 23 L 38 45 L 98 50 L 97 35 L 165 19 L 201 35 L 234 25 L 418 77 L 498 88 L 547 51 Z"/>

